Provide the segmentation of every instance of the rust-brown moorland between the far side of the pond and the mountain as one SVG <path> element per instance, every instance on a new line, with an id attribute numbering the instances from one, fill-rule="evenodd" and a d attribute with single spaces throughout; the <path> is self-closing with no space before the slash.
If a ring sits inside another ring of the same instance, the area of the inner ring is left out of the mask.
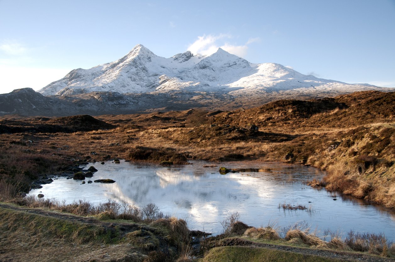
<path id="1" fill-rule="evenodd" d="M 324 181 L 311 185 L 395 208 L 394 111 L 395 92 L 368 91 L 225 112 L 5 116 L 0 120 L 1 197 L 28 190 L 31 180 L 63 172 L 75 165 L 73 160 L 260 159 L 327 170 Z"/>

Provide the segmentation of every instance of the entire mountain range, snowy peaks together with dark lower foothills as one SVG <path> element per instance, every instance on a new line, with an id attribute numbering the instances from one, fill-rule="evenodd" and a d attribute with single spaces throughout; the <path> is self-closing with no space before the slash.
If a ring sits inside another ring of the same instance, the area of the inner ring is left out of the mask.
<path id="1" fill-rule="evenodd" d="M 0 115 L 233 110 L 279 99 L 308 100 L 368 90 L 393 89 L 319 79 L 275 63 L 252 64 L 223 49 L 210 56 L 186 51 L 163 58 L 137 45 L 115 62 L 74 69 L 38 92 L 23 88 L 0 94 Z"/>

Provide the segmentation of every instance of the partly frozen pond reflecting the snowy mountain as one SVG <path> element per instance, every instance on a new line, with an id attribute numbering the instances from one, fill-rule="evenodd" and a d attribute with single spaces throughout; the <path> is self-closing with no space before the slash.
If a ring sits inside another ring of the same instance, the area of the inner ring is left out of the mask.
<path id="1" fill-rule="evenodd" d="M 275 223 L 279 227 L 307 221 L 311 228 L 348 232 L 384 232 L 395 237 L 394 213 L 385 208 L 339 193 L 329 193 L 305 185 L 306 180 L 320 180 L 324 172 L 311 167 L 268 162 L 228 162 L 217 167 L 203 167 L 207 162 L 190 161 L 191 165 L 162 167 L 121 162 L 95 165 L 98 172 L 92 180 L 111 178 L 113 184 L 85 183 L 58 178 L 41 189 L 45 198 L 71 203 L 85 199 L 105 202 L 108 198 L 142 207 L 154 203 L 165 214 L 185 219 L 191 229 L 218 234 L 220 222 L 238 211 L 240 220 L 251 226 Z M 212 163 L 210 163 L 212 165 Z M 227 167 L 239 173 L 221 175 Z M 87 179 L 88 180 L 88 179 Z M 334 201 L 336 198 L 337 201 Z M 278 204 L 311 206 L 312 212 L 284 211 Z"/>

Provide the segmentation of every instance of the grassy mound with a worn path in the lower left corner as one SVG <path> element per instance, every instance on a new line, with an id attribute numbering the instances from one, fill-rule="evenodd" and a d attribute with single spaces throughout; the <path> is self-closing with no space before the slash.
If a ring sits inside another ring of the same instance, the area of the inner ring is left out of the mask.
<path id="1" fill-rule="evenodd" d="M 190 238 L 176 218 L 114 218 L 0 203 L 0 261 L 173 261 Z"/>

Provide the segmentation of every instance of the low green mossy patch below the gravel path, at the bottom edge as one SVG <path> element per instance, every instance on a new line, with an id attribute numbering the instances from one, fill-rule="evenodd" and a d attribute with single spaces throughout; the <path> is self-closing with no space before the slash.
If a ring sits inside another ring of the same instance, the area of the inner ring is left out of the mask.
<path id="1" fill-rule="evenodd" d="M 202 262 L 220 262 L 220 261 L 340 261 L 334 258 L 325 258 L 321 256 L 303 255 L 289 251 L 266 249 L 263 247 L 215 247 L 205 255 Z"/>

